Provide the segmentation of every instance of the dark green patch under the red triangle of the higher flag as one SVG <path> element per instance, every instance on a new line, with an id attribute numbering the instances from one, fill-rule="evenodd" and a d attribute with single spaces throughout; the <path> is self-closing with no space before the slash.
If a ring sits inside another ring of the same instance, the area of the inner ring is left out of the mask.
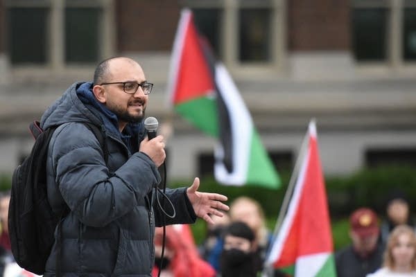
<path id="1" fill-rule="evenodd" d="M 218 111 L 214 98 L 195 98 L 175 105 L 175 110 L 202 132 L 218 137 Z"/>

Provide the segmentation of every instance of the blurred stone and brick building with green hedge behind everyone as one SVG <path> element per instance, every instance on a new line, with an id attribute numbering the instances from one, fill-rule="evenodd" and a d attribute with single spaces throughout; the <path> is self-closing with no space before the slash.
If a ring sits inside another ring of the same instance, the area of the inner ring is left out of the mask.
<path id="1" fill-rule="evenodd" d="M 216 141 L 168 106 L 184 7 L 241 91 L 281 175 L 279 190 L 216 184 Z M 336 247 L 348 240 L 343 219 L 354 208 L 382 216 L 397 187 L 416 201 L 416 0 L 0 0 L 1 188 L 31 150 L 28 124 L 114 55 L 137 60 L 155 83 L 146 115 L 172 130 L 172 186 L 200 176 L 204 190 L 251 195 L 273 228 L 315 118 Z"/>

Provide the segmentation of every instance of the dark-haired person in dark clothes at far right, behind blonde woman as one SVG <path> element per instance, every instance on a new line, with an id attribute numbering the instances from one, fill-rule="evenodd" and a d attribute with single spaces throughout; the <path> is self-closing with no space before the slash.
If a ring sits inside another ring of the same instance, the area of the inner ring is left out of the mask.
<path id="1" fill-rule="evenodd" d="M 410 215 L 410 203 L 406 194 L 401 190 L 393 190 L 389 193 L 387 204 L 385 205 L 385 220 L 380 226 L 380 240 L 384 244 L 395 226 L 406 224 L 416 231 L 416 224 Z"/>

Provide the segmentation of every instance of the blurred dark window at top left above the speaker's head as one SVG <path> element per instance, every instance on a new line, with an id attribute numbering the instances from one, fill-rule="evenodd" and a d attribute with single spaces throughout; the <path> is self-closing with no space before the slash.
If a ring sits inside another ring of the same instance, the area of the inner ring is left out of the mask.
<path id="1" fill-rule="evenodd" d="M 9 0 L 8 49 L 15 66 L 64 68 L 109 55 L 111 1 Z"/>

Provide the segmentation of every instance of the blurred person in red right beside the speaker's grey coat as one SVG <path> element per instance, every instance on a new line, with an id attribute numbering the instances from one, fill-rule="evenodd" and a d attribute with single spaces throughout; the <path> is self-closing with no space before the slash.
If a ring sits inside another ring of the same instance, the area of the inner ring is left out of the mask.
<path id="1" fill-rule="evenodd" d="M 216 271 L 203 260 L 193 240 L 184 238 L 181 226 L 166 226 L 164 256 L 162 259 L 163 228 L 155 230 L 155 267 L 153 277 L 215 277 Z"/>

